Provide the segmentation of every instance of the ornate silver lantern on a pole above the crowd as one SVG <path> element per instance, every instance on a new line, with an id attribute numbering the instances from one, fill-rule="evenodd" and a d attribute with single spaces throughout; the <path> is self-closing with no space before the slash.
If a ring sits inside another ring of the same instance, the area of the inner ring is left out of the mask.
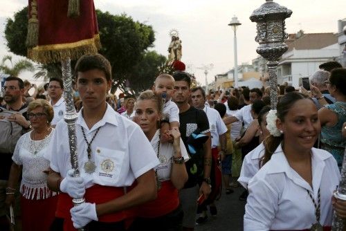
<path id="1" fill-rule="evenodd" d="M 266 0 L 260 8 L 253 11 L 250 19 L 257 23 L 257 41 L 260 46 L 257 53 L 268 60 L 269 83 L 271 85 L 271 109 L 277 104 L 277 62 L 286 52 L 288 46 L 284 43 L 288 35 L 285 32 L 284 19 L 291 17 L 292 11 L 284 6 Z"/>

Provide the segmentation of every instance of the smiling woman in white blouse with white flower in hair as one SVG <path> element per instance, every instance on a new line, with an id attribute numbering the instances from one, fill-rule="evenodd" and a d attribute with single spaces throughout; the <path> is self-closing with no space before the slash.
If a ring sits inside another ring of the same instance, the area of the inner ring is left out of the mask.
<path id="1" fill-rule="evenodd" d="M 340 181 L 336 160 L 313 148 L 320 133 L 315 104 L 301 93 L 287 93 L 267 122 L 271 136 L 264 165 L 248 183 L 244 230 L 330 228 L 332 208 L 345 216 L 346 203 L 332 199 Z"/>

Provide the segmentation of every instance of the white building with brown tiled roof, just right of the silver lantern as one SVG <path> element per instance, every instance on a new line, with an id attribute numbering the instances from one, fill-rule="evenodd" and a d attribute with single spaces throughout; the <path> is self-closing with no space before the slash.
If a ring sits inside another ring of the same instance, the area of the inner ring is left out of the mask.
<path id="1" fill-rule="evenodd" d="M 289 46 L 277 67 L 277 83 L 288 82 L 299 86 L 301 77 L 308 77 L 319 70 L 320 64 L 340 57 L 338 35 L 334 33 L 304 34 L 302 31 L 289 35 Z"/>

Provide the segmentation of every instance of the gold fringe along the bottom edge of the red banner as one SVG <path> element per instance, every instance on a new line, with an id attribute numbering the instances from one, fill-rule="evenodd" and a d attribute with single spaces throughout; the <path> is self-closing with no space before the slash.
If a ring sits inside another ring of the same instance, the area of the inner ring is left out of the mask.
<path id="1" fill-rule="evenodd" d="M 93 43 L 84 44 L 82 46 L 75 46 L 74 48 L 60 48 L 60 49 L 28 49 L 28 58 L 35 62 L 42 64 L 50 64 L 61 62 L 66 58 L 71 60 L 79 59 L 85 54 L 95 54 L 101 48 L 100 37 L 95 37 Z"/>

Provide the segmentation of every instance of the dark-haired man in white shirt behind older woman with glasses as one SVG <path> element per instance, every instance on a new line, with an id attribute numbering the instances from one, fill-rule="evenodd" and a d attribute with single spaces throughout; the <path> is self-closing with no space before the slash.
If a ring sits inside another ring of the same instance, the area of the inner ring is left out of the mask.
<path id="1" fill-rule="evenodd" d="M 51 98 L 51 105 L 54 110 L 54 117 L 51 122 L 52 127 L 55 127 L 57 122 L 64 119 L 64 113 L 66 110 L 65 100 L 62 97 L 62 93 L 64 92 L 64 82 L 62 79 L 57 77 L 52 77 L 49 80 L 48 84 L 48 95 Z"/>

